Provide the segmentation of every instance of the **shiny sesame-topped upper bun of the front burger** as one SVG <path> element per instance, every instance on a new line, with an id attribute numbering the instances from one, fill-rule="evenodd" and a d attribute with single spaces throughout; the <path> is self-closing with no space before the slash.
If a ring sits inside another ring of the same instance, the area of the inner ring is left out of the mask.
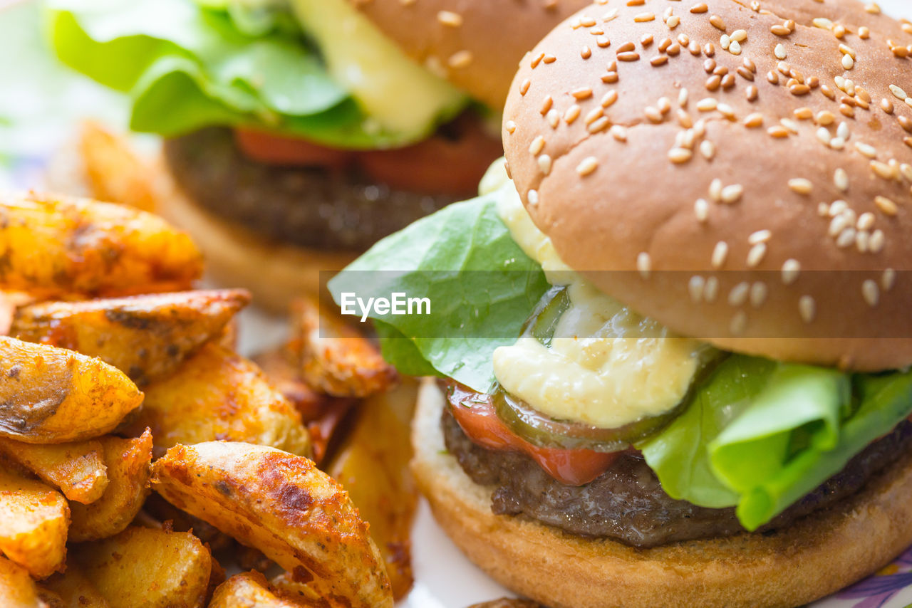
<path id="1" fill-rule="evenodd" d="M 855 0 L 598 0 L 521 62 L 504 149 L 565 263 L 637 312 L 907 366 L 910 57 L 912 25 Z"/>

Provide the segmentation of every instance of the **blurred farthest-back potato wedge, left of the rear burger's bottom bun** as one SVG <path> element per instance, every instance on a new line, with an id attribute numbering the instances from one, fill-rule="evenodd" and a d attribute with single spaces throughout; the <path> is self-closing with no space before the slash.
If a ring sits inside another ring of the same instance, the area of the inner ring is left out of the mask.
<path id="1" fill-rule="evenodd" d="M 126 139 L 95 120 L 87 120 L 79 129 L 78 151 L 92 196 L 100 201 L 155 211 L 150 169 Z"/>

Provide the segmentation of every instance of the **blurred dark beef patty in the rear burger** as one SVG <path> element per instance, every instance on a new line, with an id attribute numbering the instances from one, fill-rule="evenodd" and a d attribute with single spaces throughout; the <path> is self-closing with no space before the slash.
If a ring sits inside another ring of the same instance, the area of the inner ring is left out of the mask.
<path id="1" fill-rule="evenodd" d="M 348 170 L 249 160 L 230 129 L 168 139 L 164 156 L 181 190 L 204 209 L 270 240 L 327 251 L 366 251 L 456 201 L 394 190 Z"/>

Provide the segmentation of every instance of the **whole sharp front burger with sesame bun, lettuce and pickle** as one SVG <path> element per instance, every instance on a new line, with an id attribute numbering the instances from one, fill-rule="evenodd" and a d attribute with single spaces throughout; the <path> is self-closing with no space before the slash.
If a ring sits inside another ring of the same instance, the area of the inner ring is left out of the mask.
<path id="1" fill-rule="evenodd" d="M 910 55 L 854 0 L 596 3 L 521 62 L 481 196 L 330 282 L 428 302 L 363 307 L 482 570 L 793 606 L 912 542 Z"/>

